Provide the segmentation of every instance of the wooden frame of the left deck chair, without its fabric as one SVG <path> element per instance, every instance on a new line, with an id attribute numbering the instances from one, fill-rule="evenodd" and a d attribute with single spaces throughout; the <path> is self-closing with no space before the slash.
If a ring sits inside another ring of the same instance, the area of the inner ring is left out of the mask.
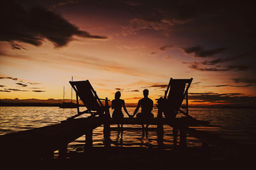
<path id="1" fill-rule="evenodd" d="M 88 80 L 87 80 L 88 81 Z M 96 91 L 93 89 L 92 87 L 92 84 L 90 84 L 89 82 L 89 86 L 90 88 L 92 89 L 92 93 L 93 95 L 95 96 L 97 102 L 99 102 L 99 105 L 100 107 L 102 108 L 102 112 L 99 112 L 99 111 L 90 111 L 89 109 L 87 109 L 86 111 L 82 111 L 80 112 L 80 109 L 79 109 L 79 98 L 81 97 L 79 91 L 77 90 L 76 88 L 76 82 L 77 81 L 69 81 L 70 85 L 72 86 L 72 88 L 74 89 L 74 91 L 76 92 L 76 104 L 77 104 L 77 114 L 75 116 L 72 116 L 70 118 L 68 118 L 67 120 L 69 119 L 73 119 L 73 118 L 76 118 L 77 116 L 80 116 L 81 114 L 91 114 L 91 116 L 96 116 L 97 114 L 99 114 L 99 116 L 107 116 L 107 117 L 110 117 L 110 114 L 109 114 L 109 105 L 108 105 L 108 102 L 110 100 L 108 100 L 108 97 L 106 97 L 105 99 L 103 98 L 99 98 Z M 79 81 L 79 82 L 83 82 L 83 81 Z M 86 82 L 86 81 L 84 81 Z M 102 104 L 101 100 L 104 100 L 105 101 L 105 105 Z"/>

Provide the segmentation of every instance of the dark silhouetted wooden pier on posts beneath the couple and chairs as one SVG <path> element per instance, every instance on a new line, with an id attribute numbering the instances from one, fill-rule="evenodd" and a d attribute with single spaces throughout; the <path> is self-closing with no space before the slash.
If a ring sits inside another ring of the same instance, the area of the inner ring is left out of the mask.
<path id="1" fill-rule="evenodd" d="M 116 130 L 110 128 L 111 125 L 122 123 L 124 125 L 157 125 L 157 128 L 150 130 L 157 131 L 157 137 L 163 138 L 163 125 L 173 128 L 173 135 L 179 135 L 179 146 L 186 147 L 186 137 L 196 137 L 202 142 L 202 146 L 207 148 L 209 145 L 220 149 L 230 157 L 244 157 L 255 151 L 252 146 L 241 144 L 225 137 L 228 132 L 220 132 L 220 128 L 210 125 L 209 122 L 198 121 L 191 118 L 175 118 L 168 120 L 166 118 L 152 118 L 150 120 L 140 120 L 139 118 L 123 118 L 122 120 L 113 120 L 113 118 L 77 118 L 73 120 L 63 121 L 56 125 L 47 127 L 33 128 L 22 132 L 15 132 L 0 136 L 1 160 L 23 158 L 23 159 L 47 159 L 51 158 L 53 152 L 59 150 L 60 158 L 65 158 L 67 152 L 67 144 L 86 135 L 85 151 L 93 147 L 93 129 L 104 125 L 104 144 L 105 147 L 111 148 L 108 143 L 110 131 Z M 211 132 L 209 129 L 211 127 Z M 141 128 L 124 128 L 123 130 L 141 130 Z M 234 134 L 237 135 L 237 134 Z M 160 140 L 161 141 L 161 140 Z M 163 139 L 162 139 L 163 141 Z M 160 146 L 160 144 L 159 144 Z"/>

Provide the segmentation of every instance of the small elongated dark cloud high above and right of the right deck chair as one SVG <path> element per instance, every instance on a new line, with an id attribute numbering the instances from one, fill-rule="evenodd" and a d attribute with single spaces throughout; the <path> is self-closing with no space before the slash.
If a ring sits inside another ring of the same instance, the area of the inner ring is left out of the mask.
<path id="1" fill-rule="evenodd" d="M 200 46 L 183 48 L 184 52 L 186 52 L 187 54 L 194 53 L 195 57 L 198 57 L 198 58 L 212 57 L 215 54 L 220 54 L 221 52 L 224 52 L 226 49 L 227 49 L 226 47 L 221 47 L 216 49 L 204 50 Z"/>

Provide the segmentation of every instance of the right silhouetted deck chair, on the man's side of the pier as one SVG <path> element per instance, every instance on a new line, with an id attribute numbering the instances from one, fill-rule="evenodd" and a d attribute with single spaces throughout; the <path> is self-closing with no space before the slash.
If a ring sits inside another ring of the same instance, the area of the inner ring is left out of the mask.
<path id="1" fill-rule="evenodd" d="M 166 118 L 175 118 L 178 113 L 182 113 L 187 117 L 191 117 L 188 114 L 188 89 L 191 85 L 191 79 L 170 79 L 167 89 L 164 93 L 164 98 L 157 100 L 157 117 L 162 118 L 163 114 Z M 182 102 L 186 98 L 186 105 L 182 111 Z"/>

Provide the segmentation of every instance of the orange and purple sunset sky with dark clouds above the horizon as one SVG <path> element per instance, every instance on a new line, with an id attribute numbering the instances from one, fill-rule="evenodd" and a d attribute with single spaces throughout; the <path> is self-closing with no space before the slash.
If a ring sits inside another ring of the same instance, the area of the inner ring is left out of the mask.
<path id="1" fill-rule="evenodd" d="M 153 100 L 190 79 L 191 104 L 254 104 L 255 8 L 246 1 L 1 1 L 0 98 Z M 74 98 L 74 97 L 73 97 Z"/>

